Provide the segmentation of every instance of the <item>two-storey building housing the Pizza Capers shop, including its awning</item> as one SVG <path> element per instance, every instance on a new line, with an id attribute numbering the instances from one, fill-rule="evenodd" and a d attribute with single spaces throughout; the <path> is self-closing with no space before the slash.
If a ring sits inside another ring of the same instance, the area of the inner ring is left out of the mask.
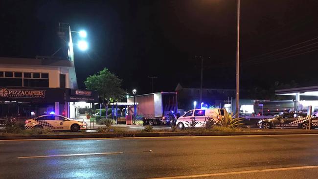
<path id="1" fill-rule="evenodd" d="M 74 118 L 74 102 L 98 102 L 95 91 L 77 89 L 74 61 L 0 57 L 0 118 Z"/>

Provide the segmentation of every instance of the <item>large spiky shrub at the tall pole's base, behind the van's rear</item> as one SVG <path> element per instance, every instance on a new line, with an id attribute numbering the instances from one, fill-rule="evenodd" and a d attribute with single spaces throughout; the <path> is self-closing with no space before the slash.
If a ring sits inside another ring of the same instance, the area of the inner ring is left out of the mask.
<path id="1" fill-rule="evenodd" d="M 228 127 L 228 128 L 238 128 L 240 125 L 244 124 L 244 123 L 240 123 L 241 121 L 243 121 L 243 118 L 234 118 L 227 111 L 224 111 L 224 116 L 218 114 L 218 116 L 214 118 L 214 120 L 216 121 L 215 123 L 218 126 Z"/>

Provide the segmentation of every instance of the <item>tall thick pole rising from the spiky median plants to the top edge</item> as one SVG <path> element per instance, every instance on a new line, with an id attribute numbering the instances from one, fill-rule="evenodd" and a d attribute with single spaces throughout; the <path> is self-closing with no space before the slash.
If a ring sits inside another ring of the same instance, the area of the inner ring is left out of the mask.
<path id="1" fill-rule="evenodd" d="M 236 32 L 236 89 L 235 89 L 235 117 L 239 117 L 239 76 L 240 76 L 240 0 L 237 0 L 237 32 Z"/>

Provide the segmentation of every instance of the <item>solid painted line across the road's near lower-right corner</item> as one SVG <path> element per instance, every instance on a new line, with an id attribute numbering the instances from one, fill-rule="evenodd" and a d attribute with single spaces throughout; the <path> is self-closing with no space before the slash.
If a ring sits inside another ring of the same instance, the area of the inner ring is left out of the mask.
<path id="1" fill-rule="evenodd" d="M 300 169 L 312 169 L 312 168 L 318 168 L 318 166 L 314 165 L 314 166 L 301 166 L 301 167 L 271 168 L 271 169 L 248 170 L 248 171 L 238 171 L 238 172 L 224 172 L 224 173 L 212 173 L 212 174 L 202 174 L 202 175 L 161 177 L 161 178 L 151 178 L 151 179 L 189 179 L 189 178 L 199 178 L 199 177 L 213 177 L 213 176 L 250 174 L 250 173 L 274 172 L 274 171 L 286 171 L 286 170 L 300 170 Z"/>

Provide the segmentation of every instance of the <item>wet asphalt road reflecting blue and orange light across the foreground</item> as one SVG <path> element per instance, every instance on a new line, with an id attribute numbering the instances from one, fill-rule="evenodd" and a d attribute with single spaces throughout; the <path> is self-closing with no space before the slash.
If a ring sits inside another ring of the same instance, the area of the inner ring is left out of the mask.
<path id="1" fill-rule="evenodd" d="M 190 175 L 195 179 L 316 179 L 318 135 L 0 141 L 1 179 L 183 179 Z"/>

